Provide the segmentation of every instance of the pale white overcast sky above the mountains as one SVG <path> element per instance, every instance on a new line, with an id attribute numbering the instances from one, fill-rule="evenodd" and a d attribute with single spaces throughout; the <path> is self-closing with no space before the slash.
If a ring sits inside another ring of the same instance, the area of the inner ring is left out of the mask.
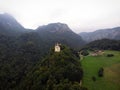
<path id="1" fill-rule="evenodd" d="M 120 26 L 120 0 L 0 0 L 25 28 L 66 23 L 75 32 Z"/>

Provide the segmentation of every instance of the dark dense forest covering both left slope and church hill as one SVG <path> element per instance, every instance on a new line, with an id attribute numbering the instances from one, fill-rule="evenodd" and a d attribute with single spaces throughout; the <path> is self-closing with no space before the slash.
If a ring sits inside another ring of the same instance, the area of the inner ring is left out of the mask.
<path id="1" fill-rule="evenodd" d="M 1 42 L 0 90 L 86 90 L 79 84 L 83 71 L 73 49 L 61 46 L 60 53 L 52 48 L 41 55 L 42 49 L 30 41 L 19 48 L 9 45 L 14 42 L 9 37 L 2 36 Z"/>

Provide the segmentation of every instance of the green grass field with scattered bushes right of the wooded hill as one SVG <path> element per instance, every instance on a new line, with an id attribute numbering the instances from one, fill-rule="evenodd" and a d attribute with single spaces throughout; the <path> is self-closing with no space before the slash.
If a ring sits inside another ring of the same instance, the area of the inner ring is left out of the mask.
<path id="1" fill-rule="evenodd" d="M 107 57 L 107 54 L 114 54 Z M 120 90 L 120 52 L 105 51 L 102 56 L 86 56 L 81 61 L 84 70 L 82 85 L 88 90 Z M 98 70 L 104 68 L 104 76 L 98 77 Z M 96 81 L 92 77 L 96 77 Z"/>

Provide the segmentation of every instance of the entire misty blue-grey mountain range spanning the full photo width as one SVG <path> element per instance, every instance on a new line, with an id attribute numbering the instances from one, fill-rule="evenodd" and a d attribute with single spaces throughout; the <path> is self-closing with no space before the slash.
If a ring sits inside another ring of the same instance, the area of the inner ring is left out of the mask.
<path id="1" fill-rule="evenodd" d="M 32 33 L 34 35 L 33 37 Z M 83 46 L 85 42 L 91 42 L 104 38 L 115 40 L 120 39 L 120 27 L 101 29 L 94 32 L 83 32 L 78 35 L 74 33 L 67 24 L 60 22 L 39 26 L 36 30 L 25 29 L 11 15 L 7 13 L 0 14 L 0 35 L 3 34 L 17 37 L 28 35 L 29 38 L 31 35 L 32 40 L 34 40 L 35 33 L 36 37 L 39 37 L 39 39 L 45 43 L 51 43 L 51 45 L 53 45 L 53 43 L 62 42 L 63 44 L 70 45 L 74 48 Z"/>

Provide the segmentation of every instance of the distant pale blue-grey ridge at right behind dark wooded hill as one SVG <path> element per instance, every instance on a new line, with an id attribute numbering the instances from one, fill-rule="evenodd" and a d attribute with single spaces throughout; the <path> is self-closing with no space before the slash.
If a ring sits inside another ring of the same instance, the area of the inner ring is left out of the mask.
<path id="1" fill-rule="evenodd" d="M 82 32 L 79 34 L 86 42 L 91 42 L 99 39 L 114 39 L 120 40 L 120 27 L 111 29 L 102 29 L 94 32 Z"/>

